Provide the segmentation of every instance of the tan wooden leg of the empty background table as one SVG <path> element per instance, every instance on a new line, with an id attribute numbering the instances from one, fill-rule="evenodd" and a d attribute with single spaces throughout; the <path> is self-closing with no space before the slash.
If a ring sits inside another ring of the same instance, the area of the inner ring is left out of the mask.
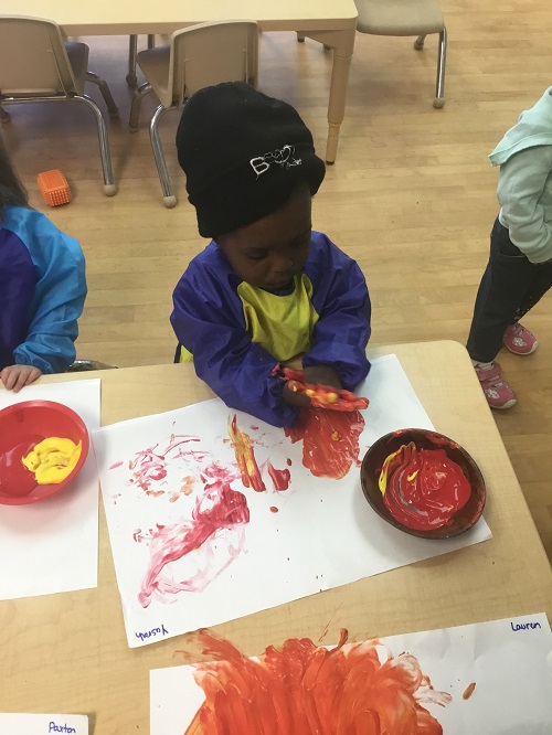
<path id="1" fill-rule="evenodd" d="M 301 35 L 333 49 L 333 67 L 331 70 L 330 98 L 328 102 L 328 141 L 326 143 L 326 162 L 330 164 L 335 163 L 337 158 L 339 130 L 344 118 L 349 70 L 355 32 L 355 28 L 350 28 L 342 31 L 304 31 L 301 33 Z"/>

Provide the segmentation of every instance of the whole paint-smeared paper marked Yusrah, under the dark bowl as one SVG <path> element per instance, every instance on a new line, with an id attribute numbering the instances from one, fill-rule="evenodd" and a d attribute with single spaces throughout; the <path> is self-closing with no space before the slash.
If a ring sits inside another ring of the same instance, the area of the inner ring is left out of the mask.
<path id="1" fill-rule="evenodd" d="M 365 412 L 320 409 L 307 438 L 304 425 L 286 436 L 219 400 L 93 433 L 130 647 L 490 536 L 480 521 L 436 544 L 373 513 L 358 468 L 368 445 L 433 426 L 394 356 L 375 360 L 359 392 Z"/>

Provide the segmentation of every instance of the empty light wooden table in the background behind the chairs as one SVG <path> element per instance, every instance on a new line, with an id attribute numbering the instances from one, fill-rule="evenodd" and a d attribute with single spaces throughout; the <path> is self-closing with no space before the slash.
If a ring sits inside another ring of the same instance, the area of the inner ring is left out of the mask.
<path id="1" fill-rule="evenodd" d="M 349 68 L 357 31 L 354 0 L 163 0 L 163 2 L 67 2 L 3 0 L 2 13 L 47 17 L 66 35 L 136 35 L 173 33 L 204 21 L 256 20 L 263 31 L 297 31 L 333 49 L 328 102 L 326 160 L 337 156 L 344 117 Z"/>

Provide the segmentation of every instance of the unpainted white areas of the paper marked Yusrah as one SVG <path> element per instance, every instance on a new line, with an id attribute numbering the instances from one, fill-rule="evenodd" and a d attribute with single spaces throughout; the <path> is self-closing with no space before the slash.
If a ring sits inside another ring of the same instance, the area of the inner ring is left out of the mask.
<path id="1" fill-rule="evenodd" d="M 394 355 L 373 362 L 359 393 L 371 402 L 360 437 L 361 457 L 388 432 L 433 428 Z M 157 589 L 150 595 L 151 584 L 146 582 L 150 547 L 158 552 L 160 537 L 169 530 L 173 545 L 183 536 L 183 524 L 198 512 L 198 493 L 204 493 L 201 475 L 213 458 L 222 467 L 235 468 L 227 438 L 229 417 L 235 413 L 214 400 L 93 433 L 130 647 L 214 626 L 490 537 L 482 519 L 468 533 L 446 541 L 410 536 L 372 511 L 357 467 L 338 481 L 314 477 L 301 464 L 302 444 L 291 445 L 282 429 L 237 413 L 238 427 L 255 441 L 258 465 L 269 459 L 276 469 L 289 468 L 289 489 L 275 492 L 265 473 L 267 491 L 255 492 L 237 477 L 232 489 L 246 497 L 250 522 L 214 534 L 199 551 L 158 568 L 159 587 L 181 583 L 182 590 Z M 177 435 L 176 441 L 195 440 L 169 452 L 172 459 L 162 470 L 167 478 L 148 481 L 148 492 L 161 494 L 147 494 L 136 481 L 130 484 L 136 467 L 129 469 L 129 461 L 155 445 L 153 454 L 162 454 L 171 435 Z M 180 449 L 195 455 L 177 458 Z M 179 492 L 191 482 L 187 478 L 193 480 L 189 496 Z M 183 584 L 187 580 L 190 584 Z"/>

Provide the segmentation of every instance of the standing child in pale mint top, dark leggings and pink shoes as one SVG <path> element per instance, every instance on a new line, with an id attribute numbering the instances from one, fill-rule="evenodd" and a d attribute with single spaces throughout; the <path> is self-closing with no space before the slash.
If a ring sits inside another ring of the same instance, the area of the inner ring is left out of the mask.
<path id="1" fill-rule="evenodd" d="M 500 167 L 500 213 L 476 298 L 467 349 L 491 408 L 510 408 L 516 393 L 496 356 L 538 348 L 520 319 L 552 286 L 552 87 L 520 115 L 489 156 Z"/>

